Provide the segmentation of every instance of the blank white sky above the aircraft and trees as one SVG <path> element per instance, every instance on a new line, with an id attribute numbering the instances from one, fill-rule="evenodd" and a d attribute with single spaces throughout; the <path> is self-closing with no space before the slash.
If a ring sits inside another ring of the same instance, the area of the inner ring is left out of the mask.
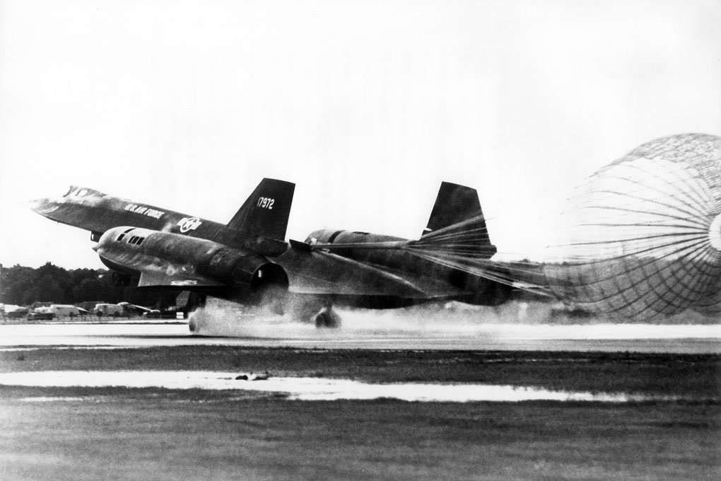
<path id="1" fill-rule="evenodd" d="M 296 182 L 288 237 L 417 238 L 442 180 L 508 257 L 573 185 L 721 135 L 721 1 L 0 0 L 0 262 L 98 268 L 20 202 L 92 187 L 226 222 Z"/>

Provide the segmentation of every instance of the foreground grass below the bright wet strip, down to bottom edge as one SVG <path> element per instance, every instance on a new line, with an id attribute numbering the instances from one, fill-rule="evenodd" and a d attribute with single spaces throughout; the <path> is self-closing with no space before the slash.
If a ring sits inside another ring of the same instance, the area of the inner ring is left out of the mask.
<path id="1" fill-rule="evenodd" d="M 706 480 L 720 474 L 718 405 L 229 401 L 205 393 L 95 391 L 85 401 L 4 397 L 2 479 Z"/>

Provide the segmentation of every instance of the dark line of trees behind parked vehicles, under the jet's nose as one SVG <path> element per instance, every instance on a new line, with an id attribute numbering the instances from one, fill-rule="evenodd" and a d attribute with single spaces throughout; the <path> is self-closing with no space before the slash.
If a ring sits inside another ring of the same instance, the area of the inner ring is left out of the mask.
<path id="1" fill-rule="evenodd" d="M 159 303 L 159 292 L 121 286 L 105 269 L 63 269 L 47 264 L 40 268 L 22 265 L 2 267 L 0 302 L 29 306 L 35 302 L 79 304 L 85 301 L 151 306 Z"/>

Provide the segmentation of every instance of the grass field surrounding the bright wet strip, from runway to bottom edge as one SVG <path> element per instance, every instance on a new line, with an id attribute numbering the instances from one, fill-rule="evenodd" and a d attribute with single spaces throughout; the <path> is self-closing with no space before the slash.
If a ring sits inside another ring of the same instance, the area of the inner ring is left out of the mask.
<path id="1" fill-rule="evenodd" d="M 193 346 L 3 352 L 6 372 L 267 369 L 713 400 L 301 402 L 242 391 L 0 387 L 0 479 L 719 479 L 720 363 L 715 355 Z"/>

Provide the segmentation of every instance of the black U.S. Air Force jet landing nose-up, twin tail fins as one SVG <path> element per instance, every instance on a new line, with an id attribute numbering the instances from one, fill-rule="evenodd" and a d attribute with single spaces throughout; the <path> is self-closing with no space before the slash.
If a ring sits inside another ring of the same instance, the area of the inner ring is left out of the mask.
<path id="1" fill-rule="evenodd" d="M 489 259 L 496 252 L 476 190 L 443 182 L 428 227 L 415 241 L 322 230 L 306 242 L 286 242 L 294 189 L 291 182 L 262 180 L 225 225 L 85 187 L 27 206 L 90 231 L 94 250 L 118 281 L 190 291 L 196 306 L 205 296 L 267 303 L 277 311 L 293 306 L 294 317 L 336 327 L 332 305 L 386 309 L 432 300 L 496 305 L 508 299 L 508 286 L 419 255 L 445 249 L 449 237 L 465 238 L 452 248 L 462 255 Z"/>

